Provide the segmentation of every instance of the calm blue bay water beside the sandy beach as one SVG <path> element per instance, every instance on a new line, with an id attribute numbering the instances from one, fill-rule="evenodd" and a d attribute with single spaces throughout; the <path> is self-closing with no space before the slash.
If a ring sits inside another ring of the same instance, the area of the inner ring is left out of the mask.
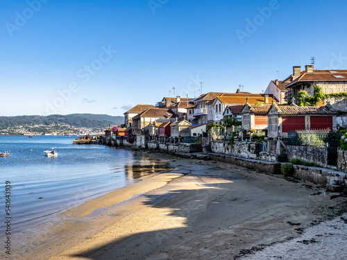
<path id="1" fill-rule="evenodd" d="M 5 182 L 10 181 L 12 231 L 162 168 L 158 161 L 138 157 L 130 150 L 73 145 L 74 138 L 0 137 L 0 152 L 10 150 L 10 156 L 0 157 L 0 216 L 2 222 Z M 58 157 L 44 156 L 44 150 L 50 148 L 57 150 Z"/>

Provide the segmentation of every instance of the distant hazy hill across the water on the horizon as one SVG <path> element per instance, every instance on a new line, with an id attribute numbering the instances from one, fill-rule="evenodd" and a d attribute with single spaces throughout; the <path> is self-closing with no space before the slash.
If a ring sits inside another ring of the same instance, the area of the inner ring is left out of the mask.
<path id="1" fill-rule="evenodd" d="M 124 116 L 107 114 L 51 114 L 49 116 L 0 116 L 0 130 L 19 125 L 68 124 L 76 128 L 107 128 L 124 123 Z"/>

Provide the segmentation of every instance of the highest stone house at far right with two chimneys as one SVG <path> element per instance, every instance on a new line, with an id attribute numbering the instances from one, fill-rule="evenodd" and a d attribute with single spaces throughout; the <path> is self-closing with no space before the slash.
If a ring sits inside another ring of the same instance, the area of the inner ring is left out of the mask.
<path id="1" fill-rule="evenodd" d="M 286 80 L 286 88 L 289 89 L 289 99 L 296 98 L 296 104 L 300 103 L 298 92 L 305 90 L 312 95 L 314 86 L 319 85 L 324 94 L 346 93 L 347 92 L 347 70 L 346 69 L 324 69 L 314 70 L 312 64 L 305 66 L 305 71 L 301 71 L 300 66 L 293 67 L 293 74 Z M 336 110 L 347 111 L 346 97 L 331 97 L 328 99 L 332 107 Z"/>

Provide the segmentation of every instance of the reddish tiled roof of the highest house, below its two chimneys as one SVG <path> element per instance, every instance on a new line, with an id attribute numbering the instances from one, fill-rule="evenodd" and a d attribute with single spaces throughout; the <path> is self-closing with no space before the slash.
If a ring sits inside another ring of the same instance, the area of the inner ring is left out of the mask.
<path id="1" fill-rule="evenodd" d="M 336 78 L 335 76 L 343 76 L 343 78 Z M 286 87 L 291 87 L 296 83 L 310 81 L 347 81 L 347 69 L 315 70 L 313 73 L 306 73 L 306 71 L 304 71 L 301 73 L 301 76 L 287 84 Z"/>

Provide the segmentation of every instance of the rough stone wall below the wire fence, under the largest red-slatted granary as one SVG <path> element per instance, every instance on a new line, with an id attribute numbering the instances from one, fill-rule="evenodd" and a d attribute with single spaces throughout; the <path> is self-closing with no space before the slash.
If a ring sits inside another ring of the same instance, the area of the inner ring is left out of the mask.
<path id="1" fill-rule="evenodd" d="M 328 150 L 323 147 L 287 146 L 287 158 L 288 161 L 303 159 L 306 162 L 314 162 L 325 167 L 328 162 Z"/>

